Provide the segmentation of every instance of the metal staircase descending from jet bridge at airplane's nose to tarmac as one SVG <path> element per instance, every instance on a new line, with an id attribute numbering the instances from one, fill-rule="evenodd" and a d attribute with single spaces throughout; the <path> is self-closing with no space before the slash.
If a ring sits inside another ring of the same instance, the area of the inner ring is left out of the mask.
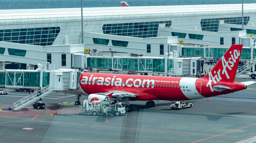
<path id="1" fill-rule="evenodd" d="M 43 98 L 49 93 L 52 93 L 52 89 L 49 88 L 49 85 L 41 89 L 41 95 L 39 94 L 38 90 L 35 90 L 34 93 L 16 101 L 13 104 L 13 106 L 15 107 L 14 111 L 18 111 L 23 107 L 26 107 L 27 105 L 32 104 L 33 102 L 39 100 L 40 98 Z"/>

